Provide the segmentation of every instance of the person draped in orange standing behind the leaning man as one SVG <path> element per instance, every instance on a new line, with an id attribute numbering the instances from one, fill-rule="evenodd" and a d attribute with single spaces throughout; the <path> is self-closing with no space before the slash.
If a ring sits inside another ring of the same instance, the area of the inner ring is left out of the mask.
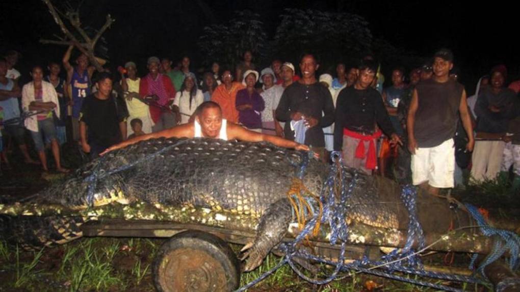
<path id="1" fill-rule="evenodd" d="M 230 70 L 224 70 L 222 84 L 217 86 L 211 95 L 211 100 L 220 106 L 223 117 L 230 122 L 238 123 L 237 92 L 243 88 L 241 82 L 233 81 Z"/>

